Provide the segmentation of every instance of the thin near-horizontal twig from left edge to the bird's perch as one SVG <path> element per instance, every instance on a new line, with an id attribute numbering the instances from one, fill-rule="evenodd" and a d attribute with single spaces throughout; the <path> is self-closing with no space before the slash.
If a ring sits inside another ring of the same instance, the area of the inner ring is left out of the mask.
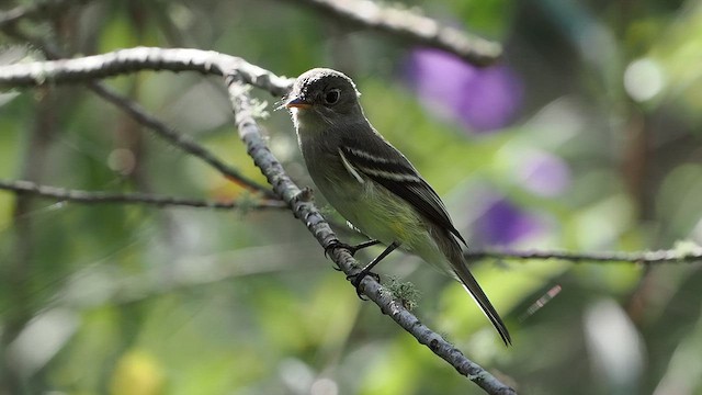
<path id="1" fill-rule="evenodd" d="M 264 208 L 285 208 L 286 205 L 280 201 L 257 200 L 239 201 L 239 202 L 212 202 L 197 199 L 183 199 L 172 196 L 159 196 L 146 193 L 110 193 L 110 192 L 90 192 L 81 190 L 70 190 L 65 188 L 55 188 L 41 185 L 31 181 L 5 181 L 0 180 L 0 190 L 12 191 L 14 193 L 34 194 L 42 198 L 54 199 L 58 201 L 78 202 L 84 204 L 101 203 L 118 203 L 118 204 L 146 204 L 158 207 L 205 207 L 205 208 L 245 208 L 245 210 L 264 210 Z"/>

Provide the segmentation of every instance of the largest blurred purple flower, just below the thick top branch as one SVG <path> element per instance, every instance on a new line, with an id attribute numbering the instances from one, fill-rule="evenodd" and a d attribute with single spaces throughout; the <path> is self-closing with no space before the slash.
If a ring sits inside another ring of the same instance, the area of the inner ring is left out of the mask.
<path id="1" fill-rule="evenodd" d="M 506 126 L 522 101 L 522 83 L 507 66 L 477 68 L 439 49 L 416 49 L 406 76 L 430 111 L 476 132 Z"/>

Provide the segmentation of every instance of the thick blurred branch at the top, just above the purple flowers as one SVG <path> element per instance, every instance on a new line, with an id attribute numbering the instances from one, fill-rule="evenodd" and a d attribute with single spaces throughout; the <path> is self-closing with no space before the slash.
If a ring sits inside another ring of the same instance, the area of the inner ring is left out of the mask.
<path id="1" fill-rule="evenodd" d="M 406 42 L 455 54 L 475 66 L 499 60 L 499 44 L 445 26 L 408 10 L 377 5 L 370 0 L 288 0 L 363 29 L 373 29 Z"/>

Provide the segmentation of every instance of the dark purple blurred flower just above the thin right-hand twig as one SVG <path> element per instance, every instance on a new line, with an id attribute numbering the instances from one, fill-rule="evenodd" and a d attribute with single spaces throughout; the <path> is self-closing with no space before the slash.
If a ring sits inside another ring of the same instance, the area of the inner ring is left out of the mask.
<path id="1" fill-rule="evenodd" d="M 503 198 L 490 198 L 475 224 L 474 239 L 488 246 L 509 246 L 544 230 L 534 215 Z"/>

